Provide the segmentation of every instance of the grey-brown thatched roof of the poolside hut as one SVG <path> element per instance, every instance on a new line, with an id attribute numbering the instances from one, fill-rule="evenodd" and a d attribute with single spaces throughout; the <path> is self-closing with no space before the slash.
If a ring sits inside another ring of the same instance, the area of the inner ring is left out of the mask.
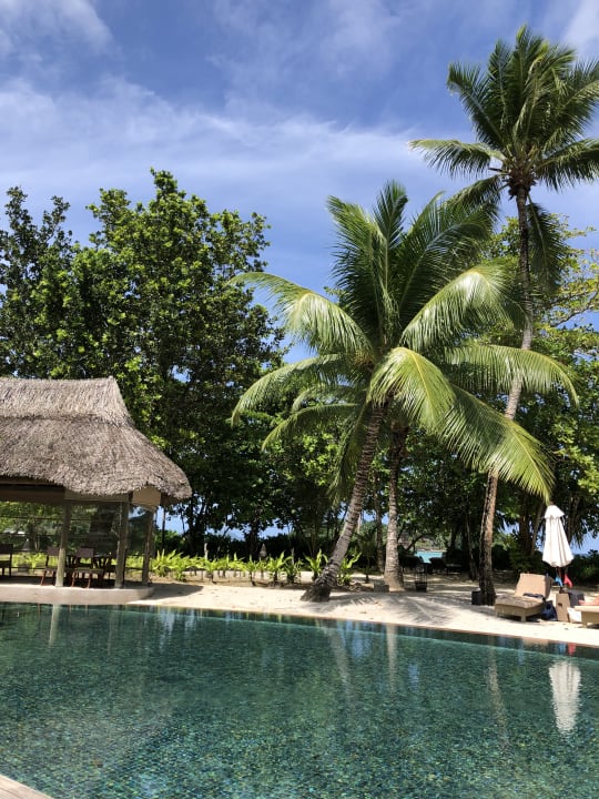
<path id="1" fill-rule="evenodd" d="M 153 487 L 191 495 L 184 473 L 133 425 L 116 381 L 0 378 L 0 478 L 104 498 Z"/>

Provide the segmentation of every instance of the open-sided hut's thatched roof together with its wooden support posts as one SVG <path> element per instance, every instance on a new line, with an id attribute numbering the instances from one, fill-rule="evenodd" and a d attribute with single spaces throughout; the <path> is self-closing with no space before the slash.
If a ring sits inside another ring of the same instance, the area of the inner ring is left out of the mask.
<path id="1" fill-rule="evenodd" d="M 0 378 L 0 502 L 62 505 L 57 585 L 77 505 L 120 503 L 116 587 L 124 585 L 131 506 L 150 516 L 191 496 L 179 466 L 138 431 L 113 377 L 83 381 Z M 149 579 L 153 525 L 145 532 Z"/>

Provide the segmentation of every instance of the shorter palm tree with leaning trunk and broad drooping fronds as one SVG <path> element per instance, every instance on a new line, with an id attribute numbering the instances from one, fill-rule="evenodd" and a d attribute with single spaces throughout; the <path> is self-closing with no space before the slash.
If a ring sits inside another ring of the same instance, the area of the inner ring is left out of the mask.
<path id="1" fill-rule="evenodd" d="M 270 438 L 341 419 L 344 462 L 355 464 L 342 533 L 304 599 L 326 600 L 336 585 L 386 419 L 425 431 L 473 467 L 493 468 L 548 496 L 550 469 L 540 445 L 468 392 L 506 391 L 516 375 L 534 390 L 557 382 L 571 388 L 549 358 L 479 345 L 470 335 L 498 317 L 510 321 L 509 275 L 497 263 L 479 262 L 493 219 L 480 204 L 435 199 L 404 230 L 406 202 L 393 182 L 372 215 L 329 199 L 337 230 L 335 300 L 265 273 L 235 279 L 265 289 L 287 332 L 315 355 L 261 377 L 233 419 L 291 394 L 292 412 Z"/>

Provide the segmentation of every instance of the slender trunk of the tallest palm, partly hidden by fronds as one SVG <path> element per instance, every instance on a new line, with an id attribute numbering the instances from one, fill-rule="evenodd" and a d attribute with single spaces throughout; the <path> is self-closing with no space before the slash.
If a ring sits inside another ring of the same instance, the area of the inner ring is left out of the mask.
<path id="1" fill-rule="evenodd" d="M 524 305 L 526 311 L 526 322 L 522 331 L 522 343 L 520 350 L 530 350 L 534 335 L 534 307 L 530 296 L 530 271 L 528 257 L 528 216 L 526 212 L 526 203 L 528 191 L 524 186 L 519 186 L 516 193 L 516 205 L 518 208 L 518 231 L 520 240 L 520 252 L 518 256 L 518 271 L 524 293 Z M 512 419 L 516 416 L 520 394 L 522 391 L 522 382 L 516 378 L 511 384 L 506 405 L 505 416 Z M 480 569 L 478 585 L 481 593 L 481 603 L 484 605 L 495 604 L 495 585 L 493 580 L 493 530 L 495 509 L 497 505 L 497 489 L 499 487 L 499 478 L 496 473 L 491 472 L 487 478 L 487 490 L 485 495 L 485 507 L 483 510 L 483 520 L 480 523 Z"/>

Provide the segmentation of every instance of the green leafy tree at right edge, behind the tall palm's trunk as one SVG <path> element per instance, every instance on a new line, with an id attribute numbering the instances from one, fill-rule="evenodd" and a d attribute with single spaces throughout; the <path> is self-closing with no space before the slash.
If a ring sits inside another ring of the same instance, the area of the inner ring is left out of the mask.
<path id="1" fill-rule="evenodd" d="M 567 364 L 576 383 L 579 403 L 570 407 L 564 396 L 520 398 L 516 419 L 532 435 L 542 438 L 552 453 L 555 488 L 552 500 L 564 507 L 570 538 L 581 544 L 596 529 L 599 481 L 597 476 L 597 330 L 589 323 L 599 312 L 599 266 L 597 254 L 575 247 L 573 239 L 587 231 L 572 230 L 567 221 L 554 219 L 564 241 L 565 261 L 551 305 L 538 320 L 532 346 Z M 488 253 L 514 263 L 518 261 L 517 220 L 508 219 L 493 237 Z M 488 331 L 489 341 L 505 341 L 499 327 Z M 507 340 L 512 342 L 512 335 Z M 488 397 L 497 407 L 499 397 Z M 497 523 L 514 530 L 512 543 L 525 558 L 531 558 L 542 532 L 545 506 L 538 497 L 519 490 L 502 490 L 497 503 Z"/>

